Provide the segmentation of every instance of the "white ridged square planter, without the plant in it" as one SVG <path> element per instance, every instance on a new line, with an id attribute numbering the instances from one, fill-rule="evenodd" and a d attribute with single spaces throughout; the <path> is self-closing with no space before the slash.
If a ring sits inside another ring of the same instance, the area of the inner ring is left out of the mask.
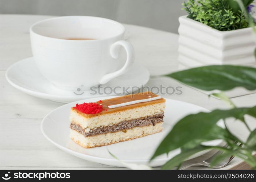
<path id="1" fill-rule="evenodd" d="M 256 63 L 252 28 L 222 32 L 186 16 L 179 17 L 179 23 L 179 62 L 183 66 Z"/>

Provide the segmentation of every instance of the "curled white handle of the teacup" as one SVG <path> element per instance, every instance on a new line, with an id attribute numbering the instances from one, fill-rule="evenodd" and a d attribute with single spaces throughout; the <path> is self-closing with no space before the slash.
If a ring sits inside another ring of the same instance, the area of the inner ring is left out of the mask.
<path id="1" fill-rule="evenodd" d="M 105 84 L 105 83 L 109 82 L 111 79 L 124 74 L 125 72 L 127 72 L 132 67 L 132 64 L 134 63 L 134 50 L 133 50 L 133 47 L 132 47 L 131 43 L 129 43 L 125 40 L 116 41 L 110 47 L 110 55 L 113 58 L 117 59 L 118 54 L 119 54 L 119 51 L 117 50 L 117 48 L 119 46 L 123 46 L 125 51 L 126 51 L 126 54 L 127 54 L 126 62 L 120 70 L 117 70 L 115 72 L 104 75 L 100 79 L 100 84 Z"/>

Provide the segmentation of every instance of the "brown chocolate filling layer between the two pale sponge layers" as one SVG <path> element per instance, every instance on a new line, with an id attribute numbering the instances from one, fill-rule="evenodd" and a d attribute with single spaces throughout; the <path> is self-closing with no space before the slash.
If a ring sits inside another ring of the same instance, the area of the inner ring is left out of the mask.
<path id="1" fill-rule="evenodd" d="M 89 137 L 94 135 L 106 134 L 108 132 L 117 132 L 121 130 L 124 130 L 125 132 L 125 130 L 139 126 L 154 126 L 156 123 L 163 122 L 163 117 L 163 114 L 157 114 L 153 116 L 132 119 L 114 124 L 112 126 L 98 127 L 93 130 L 90 130 L 90 132 L 86 132 L 79 124 L 75 123 L 70 123 L 70 128 L 81 133 L 82 135 L 84 135 L 84 137 Z"/>

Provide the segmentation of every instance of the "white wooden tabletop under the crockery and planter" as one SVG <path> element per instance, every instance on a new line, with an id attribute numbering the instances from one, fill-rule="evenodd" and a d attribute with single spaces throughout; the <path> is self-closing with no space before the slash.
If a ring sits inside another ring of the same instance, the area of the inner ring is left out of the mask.
<path id="1" fill-rule="evenodd" d="M 123 169 L 85 161 L 52 145 L 43 137 L 40 123 L 48 112 L 63 104 L 24 94 L 9 85 L 5 79 L 5 71 L 9 66 L 32 56 L 30 25 L 49 17 L 0 15 L 0 169 Z M 181 86 L 170 78 L 156 76 L 177 68 L 177 47 L 172 45 L 177 41 L 177 36 L 135 25 L 125 27 L 128 39 L 135 47 L 136 61 L 144 64 L 151 75 L 154 75 L 147 86 Z M 148 36 L 153 36 L 155 41 L 148 41 Z M 143 51 L 151 52 L 148 59 L 143 58 Z M 208 98 L 206 94 L 192 88 L 182 85 L 182 91 L 182 95 L 164 97 L 193 103 L 210 110 L 228 108 L 221 100 Z M 237 106 L 253 106 L 256 104 L 256 94 L 232 98 L 232 101 Z M 255 120 L 248 118 L 248 122 L 252 128 L 256 127 Z M 240 138 L 245 139 L 248 135 L 246 128 L 239 122 L 232 122 L 230 128 Z M 207 156 L 209 154 L 201 158 Z M 234 159 L 230 165 L 238 161 Z"/>

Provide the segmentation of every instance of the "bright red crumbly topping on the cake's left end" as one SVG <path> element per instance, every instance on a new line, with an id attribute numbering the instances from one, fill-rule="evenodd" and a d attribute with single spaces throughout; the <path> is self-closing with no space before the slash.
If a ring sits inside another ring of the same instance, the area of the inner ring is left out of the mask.
<path id="1" fill-rule="evenodd" d="M 102 105 L 93 102 L 76 104 L 74 108 L 85 114 L 97 114 L 103 110 Z"/>

